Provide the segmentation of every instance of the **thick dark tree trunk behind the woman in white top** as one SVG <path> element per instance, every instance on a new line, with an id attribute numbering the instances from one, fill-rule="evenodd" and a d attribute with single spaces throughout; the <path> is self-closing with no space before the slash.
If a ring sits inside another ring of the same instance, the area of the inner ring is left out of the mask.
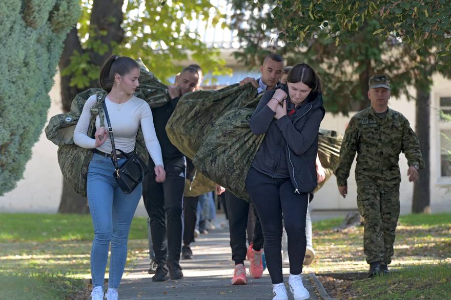
<path id="1" fill-rule="evenodd" d="M 113 2 L 113 3 L 112 3 Z M 108 11 L 108 13 L 106 13 Z M 112 55 L 112 44 L 119 44 L 124 39 L 124 31 L 120 27 L 123 21 L 121 0 L 94 0 L 91 19 L 90 37 L 102 41 L 109 46 L 109 50 L 98 54 L 92 50 L 84 50 L 78 38 L 78 31 L 74 27 L 67 35 L 64 42 L 64 50 L 59 60 L 59 71 L 63 71 L 69 64 L 70 58 L 77 51 L 79 54 L 88 53 L 91 63 L 97 65 L 99 70 L 103 62 Z M 75 95 L 89 87 L 97 87 L 97 80 L 91 82 L 91 86 L 79 89 L 70 86 L 70 76 L 61 76 L 61 100 L 63 111 L 68 112 Z M 87 199 L 81 197 L 63 180 L 63 193 L 59 203 L 58 213 L 66 214 L 88 214 L 89 207 Z"/>

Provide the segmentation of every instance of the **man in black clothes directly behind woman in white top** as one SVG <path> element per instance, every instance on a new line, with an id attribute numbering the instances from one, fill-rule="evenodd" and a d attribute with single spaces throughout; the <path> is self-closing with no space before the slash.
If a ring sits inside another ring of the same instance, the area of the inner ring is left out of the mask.
<path id="1" fill-rule="evenodd" d="M 165 281 L 169 271 L 171 279 L 183 278 L 179 264 L 182 239 L 182 202 L 185 189 L 186 157 L 170 141 L 166 134 L 166 124 L 179 98 L 194 91 L 199 74 L 193 67 L 186 67 L 180 73 L 177 84 L 169 86 L 172 101 L 153 108 L 153 122 L 163 154 L 166 181 L 155 181 L 155 173 L 149 172 L 143 182 L 142 196 L 150 218 L 152 244 L 157 269 L 153 281 Z M 149 160 L 153 170 L 153 161 Z"/>

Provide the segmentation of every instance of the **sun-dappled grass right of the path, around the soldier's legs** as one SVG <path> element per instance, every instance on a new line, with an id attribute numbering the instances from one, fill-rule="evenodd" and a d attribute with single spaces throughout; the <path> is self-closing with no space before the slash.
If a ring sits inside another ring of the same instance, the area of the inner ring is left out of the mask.
<path id="1" fill-rule="evenodd" d="M 305 272 L 366 272 L 363 227 L 335 228 L 343 218 L 313 223 L 314 263 Z M 399 218 L 389 276 L 338 284 L 338 299 L 451 299 L 451 214 Z"/>

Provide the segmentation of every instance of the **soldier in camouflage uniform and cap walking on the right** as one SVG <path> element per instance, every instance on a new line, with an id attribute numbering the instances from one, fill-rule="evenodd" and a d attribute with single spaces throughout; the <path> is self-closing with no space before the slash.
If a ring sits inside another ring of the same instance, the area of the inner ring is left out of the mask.
<path id="1" fill-rule="evenodd" d="M 370 264 L 368 276 L 388 273 L 392 262 L 395 230 L 399 217 L 398 161 L 402 151 L 408 163 L 408 179 L 416 181 L 424 168 L 417 135 L 407 119 L 388 108 L 390 81 L 374 75 L 368 82 L 371 106 L 351 118 L 335 169 L 338 190 L 345 197 L 346 179 L 357 152 L 357 205 L 364 218 L 363 251 Z"/>

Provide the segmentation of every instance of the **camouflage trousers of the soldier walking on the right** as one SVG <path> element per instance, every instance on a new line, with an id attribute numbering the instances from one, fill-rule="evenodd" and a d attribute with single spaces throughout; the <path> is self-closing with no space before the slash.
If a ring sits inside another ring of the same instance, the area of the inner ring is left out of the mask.
<path id="1" fill-rule="evenodd" d="M 399 218 L 399 183 L 384 186 L 357 183 L 357 206 L 364 219 L 363 252 L 368 264 L 392 262 L 395 231 Z"/>

